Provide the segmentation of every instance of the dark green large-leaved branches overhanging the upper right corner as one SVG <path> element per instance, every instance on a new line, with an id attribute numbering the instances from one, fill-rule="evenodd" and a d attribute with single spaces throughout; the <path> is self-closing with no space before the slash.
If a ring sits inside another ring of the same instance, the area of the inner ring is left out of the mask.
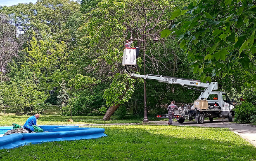
<path id="1" fill-rule="evenodd" d="M 171 19 L 186 19 L 162 36 L 176 35 L 201 81 L 228 77 L 255 86 L 255 13 L 254 0 L 198 0 L 173 11 Z"/>

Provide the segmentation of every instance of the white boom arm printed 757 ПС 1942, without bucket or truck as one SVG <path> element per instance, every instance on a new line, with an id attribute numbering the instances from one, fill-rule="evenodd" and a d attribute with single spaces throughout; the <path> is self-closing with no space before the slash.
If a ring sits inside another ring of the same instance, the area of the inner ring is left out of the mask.
<path id="1" fill-rule="evenodd" d="M 147 74 L 147 75 L 130 74 L 130 75 L 133 77 L 139 77 L 144 79 L 158 80 L 159 82 L 168 83 L 168 84 L 204 87 L 205 88 L 204 92 L 201 93 L 198 99 L 207 99 L 211 94 L 212 90 L 218 90 L 218 82 L 201 83 L 199 80 L 183 79 L 183 78 L 175 78 L 175 77 L 159 76 L 159 75 L 151 75 L 151 74 Z"/>

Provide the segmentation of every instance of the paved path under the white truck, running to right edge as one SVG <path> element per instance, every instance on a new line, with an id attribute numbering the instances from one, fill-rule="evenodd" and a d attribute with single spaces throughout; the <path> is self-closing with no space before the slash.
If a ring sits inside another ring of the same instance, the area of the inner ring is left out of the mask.
<path id="1" fill-rule="evenodd" d="M 204 124 L 197 124 L 196 122 L 184 122 L 180 124 L 178 122 L 174 122 L 174 126 L 196 126 L 196 127 L 222 127 L 229 128 L 230 130 L 237 133 L 239 136 L 249 141 L 249 143 L 253 144 L 256 147 L 256 125 L 247 125 L 247 124 L 233 124 L 229 123 L 228 119 L 213 120 L 213 122 L 205 120 Z M 149 121 L 150 124 L 157 125 L 168 125 L 168 121 Z"/>

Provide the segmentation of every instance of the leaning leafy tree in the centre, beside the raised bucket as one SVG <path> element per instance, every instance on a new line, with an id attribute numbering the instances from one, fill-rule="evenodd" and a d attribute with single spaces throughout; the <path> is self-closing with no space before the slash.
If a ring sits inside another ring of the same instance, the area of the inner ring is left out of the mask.
<path id="1" fill-rule="evenodd" d="M 167 25 L 163 15 L 170 6 L 170 3 L 165 0 L 154 2 L 102 0 L 95 9 L 86 14 L 86 23 L 81 26 L 78 33 L 80 41 L 71 59 L 80 68 L 79 73 L 87 73 L 97 80 L 111 83 L 104 91 L 104 98 L 109 106 L 104 120 L 108 120 L 121 104 L 127 102 L 134 90 L 135 80 L 124 73 L 120 64 L 123 41 L 127 39 L 128 30 L 131 32 L 132 28 L 145 27 L 145 29 L 154 28 L 157 32 L 162 26 Z M 152 34 L 152 31 L 149 30 L 149 34 Z M 136 39 L 140 39 L 137 31 L 133 30 L 133 34 Z M 135 45 L 141 47 L 141 42 L 138 41 Z M 152 49 L 149 50 L 148 60 L 156 60 L 152 53 L 161 45 L 147 43 L 147 46 L 149 48 L 151 46 L 150 49 Z M 167 52 L 165 54 L 167 55 Z M 141 58 L 137 60 L 137 64 L 141 67 Z M 149 67 L 152 66 L 149 65 Z M 154 66 L 154 69 L 160 69 L 160 65 Z M 89 74 L 92 71 L 95 72 Z"/>

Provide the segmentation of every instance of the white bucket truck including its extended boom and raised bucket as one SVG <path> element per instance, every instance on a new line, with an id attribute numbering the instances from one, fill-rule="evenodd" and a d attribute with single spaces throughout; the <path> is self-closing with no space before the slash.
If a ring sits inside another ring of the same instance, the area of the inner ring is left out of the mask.
<path id="1" fill-rule="evenodd" d="M 123 66 L 125 66 L 125 69 L 128 74 L 130 74 L 130 76 L 143 79 L 158 80 L 159 82 L 168 84 L 179 84 L 189 89 L 201 91 L 201 95 L 196 101 L 194 101 L 193 106 L 188 106 L 185 104 L 185 106 L 179 107 L 178 110 L 175 110 L 174 118 L 176 118 L 179 123 L 182 124 L 185 120 L 195 119 L 198 124 L 202 124 L 204 123 L 205 117 L 209 117 L 210 122 L 212 122 L 213 118 L 215 117 L 225 117 L 228 118 L 229 122 L 232 122 L 232 118 L 235 114 L 233 110 L 234 106 L 232 105 L 234 100 L 230 100 L 225 92 L 213 91 L 218 90 L 218 82 L 201 83 L 199 80 L 193 79 L 183 79 L 151 74 L 134 74 L 128 70 L 130 66 L 134 67 L 136 64 L 135 52 L 131 52 L 130 50 L 135 49 L 125 48 L 123 51 Z M 194 87 L 203 87 L 204 90 L 200 90 Z M 157 117 L 168 118 L 168 114 L 157 115 Z"/>

